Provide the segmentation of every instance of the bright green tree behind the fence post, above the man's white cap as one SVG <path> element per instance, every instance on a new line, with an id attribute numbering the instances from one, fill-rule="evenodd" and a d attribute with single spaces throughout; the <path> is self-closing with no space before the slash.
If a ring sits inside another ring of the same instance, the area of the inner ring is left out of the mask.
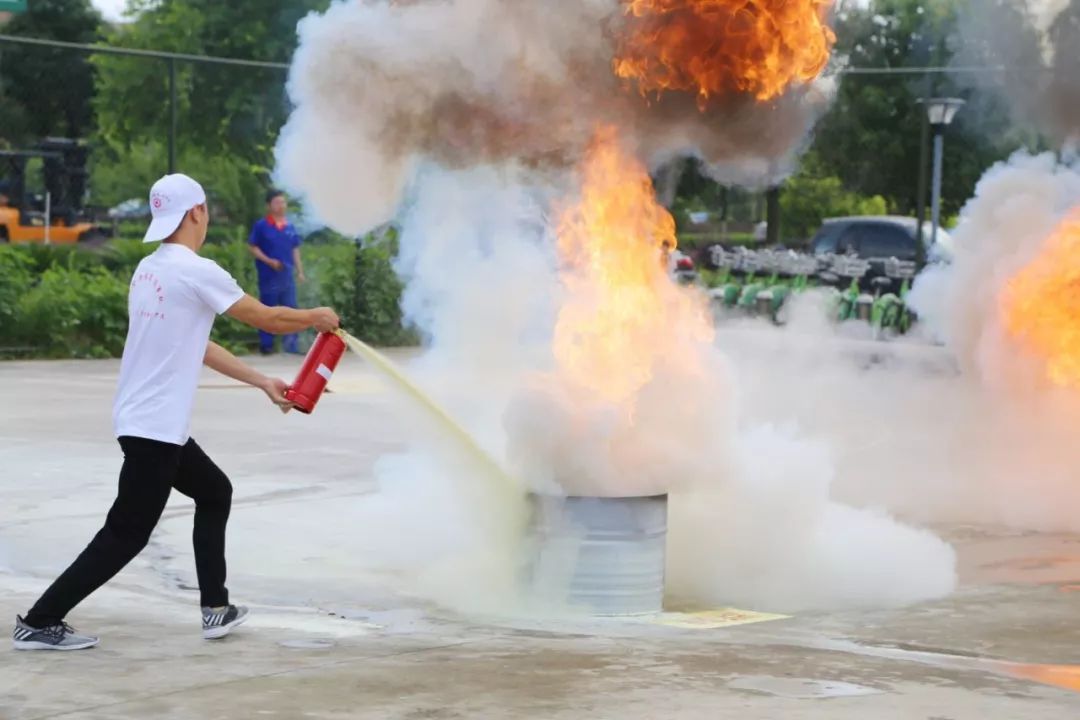
<path id="1" fill-rule="evenodd" d="M 296 24 L 329 0 L 129 0 L 135 21 L 111 44 L 287 63 Z M 131 148 L 168 134 L 164 60 L 97 56 L 95 108 L 102 139 Z M 267 164 L 288 106 L 279 69 L 177 63 L 178 148 L 195 146 Z"/>

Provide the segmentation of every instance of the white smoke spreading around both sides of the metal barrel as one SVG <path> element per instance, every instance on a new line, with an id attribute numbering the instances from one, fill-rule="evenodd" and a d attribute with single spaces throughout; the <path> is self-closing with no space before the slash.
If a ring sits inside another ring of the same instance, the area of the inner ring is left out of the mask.
<path id="1" fill-rule="evenodd" d="M 551 336 L 563 293 L 543 192 L 521 169 L 429 167 L 420 177 L 401 219 L 400 260 L 409 281 L 406 312 L 432 338 L 416 377 L 535 490 L 572 491 L 581 478 L 599 478 L 599 487 L 590 486 L 599 494 L 671 490 L 673 600 L 799 611 L 901 604 L 955 586 L 947 544 L 883 510 L 837 501 L 836 486 L 873 483 L 878 472 L 862 467 L 845 483 L 831 450 L 843 446 L 842 436 L 809 439 L 773 426 L 774 418 L 816 424 L 785 403 L 799 397 L 787 379 L 807 377 L 787 347 L 734 369 L 718 349 L 696 348 L 708 376 L 703 381 L 661 368 L 640 395 L 637 423 L 591 412 L 564 388 L 538 382 L 553 366 Z M 819 314 L 801 314 L 813 318 L 805 330 L 828 331 L 814 326 Z M 747 412 L 753 407 L 774 412 Z M 426 425 L 418 419 L 413 426 Z M 485 525 L 508 508 L 497 494 L 465 492 L 483 477 L 433 440 L 437 432 L 419 430 L 416 437 L 408 456 L 377 467 L 382 491 L 367 507 L 369 519 L 357 524 L 357 542 L 376 569 L 462 611 L 537 610 L 536 594 L 517 594 L 515 568 L 524 558 L 514 546 L 492 542 L 498 528 Z M 909 484 L 893 479 L 893 489 Z M 903 498 L 914 495 L 904 491 Z M 565 570 L 549 569 L 545 578 L 565 581 Z M 558 610 L 558 588 L 543 589 L 541 599 L 555 606 L 541 609 Z"/>

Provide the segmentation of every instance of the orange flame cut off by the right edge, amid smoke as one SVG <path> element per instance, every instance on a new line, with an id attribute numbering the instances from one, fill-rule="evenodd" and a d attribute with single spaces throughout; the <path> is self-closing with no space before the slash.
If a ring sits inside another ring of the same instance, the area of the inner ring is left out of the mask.
<path id="1" fill-rule="evenodd" d="M 1042 358 L 1056 385 L 1080 388 L 1080 209 L 1001 296 L 1005 330 Z"/>

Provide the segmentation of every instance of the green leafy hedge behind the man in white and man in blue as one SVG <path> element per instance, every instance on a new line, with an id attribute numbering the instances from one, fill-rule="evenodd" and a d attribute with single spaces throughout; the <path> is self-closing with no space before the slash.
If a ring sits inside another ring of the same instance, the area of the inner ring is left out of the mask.
<path id="1" fill-rule="evenodd" d="M 246 293 L 258 295 L 255 260 L 245 233 L 226 227 L 227 242 L 207 242 L 202 255 L 227 270 Z M 100 249 L 78 246 L 0 246 L 0 349 L 30 348 L 39 357 L 109 357 L 123 351 L 127 285 L 138 262 L 158 246 L 140 239 L 113 240 Z M 325 234 L 302 248 L 308 282 L 297 288 L 300 307 L 329 305 L 342 326 L 368 342 L 411 344 L 402 326 L 402 283 L 391 258 L 390 235 L 369 242 L 357 262 L 356 245 Z M 356 282 L 356 272 L 361 282 Z M 308 332 L 308 340 L 312 334 Z M 254 350 L 258 335 L 229 317 L 214 324 L 213 339 L 233 352 Z"/>

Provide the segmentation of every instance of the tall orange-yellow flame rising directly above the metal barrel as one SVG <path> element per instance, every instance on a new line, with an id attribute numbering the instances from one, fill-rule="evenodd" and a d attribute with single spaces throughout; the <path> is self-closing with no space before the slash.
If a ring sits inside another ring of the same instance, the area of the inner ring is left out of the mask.
<path id="1" fill-rule="evenodd" d="M 675 220 L 613 127 L 585 153 L 580 201 L 557 227 L 568 300 L 555 326 L 564 378 L 611 403 L 632 400 L 685 334 L 712 338 L 704 308 L 672 282 Z"/>

